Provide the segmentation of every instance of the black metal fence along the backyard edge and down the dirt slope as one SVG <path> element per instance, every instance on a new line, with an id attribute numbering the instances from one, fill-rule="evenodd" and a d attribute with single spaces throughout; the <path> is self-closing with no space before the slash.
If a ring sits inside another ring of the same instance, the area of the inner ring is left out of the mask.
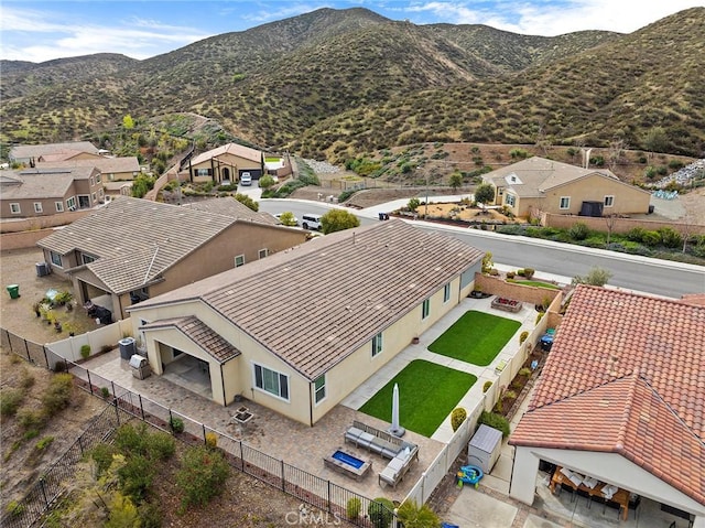
<path id="1" fill-rule="evenodd" d="M 364 495 L 270 456 L 241 440 L 132 392 L 112 380 L 57 356 L 42 345 L 28 342 L 7 330 L 0 328 L 0 333 L 2 346 L 8 346 L 11 352 L 30 363 L 55 371 L 70 373 L 78 388 L 104 399 L 109 405 L 66 453 L 44 472 L 32 489 L 12 505 L 11 511 L 3 513 L 1 526 L 9 528 L 33 526 L 62 494 L 65 482 L 74 475 L 84 454 L 97 443 L 109 441 L 115 430 L 131 419 L 143 420 L 187 444 L 205 444 L 208 443 L 208 439 L 210 442 L 215 439 L 217 446 L 234 468 L 315 506 L 326 513 L 330 521 L 339 519 L 354 526 L 372 526 L 368 513 L 373 502 Z M 178 423 L 178 427 L 173 427 L 175 423 Z M 386 518 L 393 518 L 393 513 L 379 503 L 372 506 L 371 511 L 377 511 L 377 515 L 383 515 Z M 306 514 L 299 511 L 295 515 Z M 392 526 L 395 526 L 395 519 Z"/>

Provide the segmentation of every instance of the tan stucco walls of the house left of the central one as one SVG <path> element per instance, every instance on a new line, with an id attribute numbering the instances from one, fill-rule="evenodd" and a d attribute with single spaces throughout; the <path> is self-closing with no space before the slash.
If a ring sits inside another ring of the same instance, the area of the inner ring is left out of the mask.
<path id="1" fill-rule="evenodd" d="M 238 256 L 245 257 L 245 263 L 252 262 L 260 258 L 260 251 L 265 250 L 267 255 L 272 255 L 303 244 L 305 240 L 306 233 L 301 229 L 237 222 L 167 268 L 159 280 L 145 284 L 147 295 L 156 297 L 235 268 L 235 259 Z M 77 302 L 83 304 L 89 299 L 108 294 L 111 298 L 111 305 L 106 308 L 113 313 L 113 319 L 127 317 L 126 309 L 132 305 L 130 292 L 110 291 L 98 277 L 82 266 L 83 255 L 80 250 L 62 255 L 62 266 L 59 267 L 55 263 L 55 256 L 52 256 L 51 251 L 44 248 L 44 259 L 51 263 L 52 271 L 73 281 Z M 67 272 L 66 270 L 72 271 Z"/>

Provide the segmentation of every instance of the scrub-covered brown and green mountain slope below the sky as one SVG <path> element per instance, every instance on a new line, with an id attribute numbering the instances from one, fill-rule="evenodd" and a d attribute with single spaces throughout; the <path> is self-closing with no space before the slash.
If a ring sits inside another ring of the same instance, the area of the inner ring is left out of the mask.
<path id="1" fill-rule="evenodd" d="M 705 143 L 705 8 L 628 35 L 517 35 L 321 9 L 133 61 L 6 63 L 4 141 L 78 139 L 192 111 L 272 149 L 340 160 L 422 141 Z"/>

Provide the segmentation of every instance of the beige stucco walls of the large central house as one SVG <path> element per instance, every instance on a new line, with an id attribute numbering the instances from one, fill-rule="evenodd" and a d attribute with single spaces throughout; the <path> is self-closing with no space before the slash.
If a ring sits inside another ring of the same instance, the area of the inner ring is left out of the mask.
<path id="1" fill-rule="evenodd" d="M 479 267 L 477 263 L 475 267 Z M 474 268 L 475 268 L 474 267 Z M 474 276 L 475 270 L 470 271 Z M 314 382 L 282 360 L 243 332 L 237 322 L 226 320 L 199 300 L 172 302 L 162 305 L 140 308 L 135 305 L 130 315 L 134 325 L 133 335 L 140 335 L 148 351 L 148 357 L 154 374 L 163 374 L 163 366 L 174 360 L 172 347 L 185 354 L 208 362 L 213 399 L 221 405 L 229 405 L 241 395 L 252 401 L 268 407 L 299 422 L 313 425 L 345 397 L 355 390 L 372 374 L 403 351 L 411 341 L 436 323 L 459 300 L 473 290 L 473 282 L 460 289 L 460 277 L 451 281 L 449 299 L 444 302 L 445 288 L 442 287 L 430 298 L 429 315 L 422 317 L 422 304 L 411 308 L 389 327 L 382 330 L 382 351 L 372 357 L 372 340 L 365 342 L 345 356 L 338 364 L 325 373 L 325 398 L 315 401 Z M 186 337 L 176 327 L 141 330 L 144 322 L 171 320 L 194 315 L 230 345 L 240 355 L 220 363 L 200 346 Z M 178 358 L 176 358 L 178 360 Z M 254 365 L 265 367 L 288 377 L 289 399 L 262 390 L 254 382 Z"/>

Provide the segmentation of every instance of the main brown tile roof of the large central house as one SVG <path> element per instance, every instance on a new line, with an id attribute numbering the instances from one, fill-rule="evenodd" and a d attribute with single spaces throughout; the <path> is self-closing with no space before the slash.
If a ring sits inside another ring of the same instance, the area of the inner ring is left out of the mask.
<path id="1" fill-rule="evenodd" d="M 335 233 L 149 299 L 200 299 L 313 380 L 482 258 L 401 220 Z"/>

